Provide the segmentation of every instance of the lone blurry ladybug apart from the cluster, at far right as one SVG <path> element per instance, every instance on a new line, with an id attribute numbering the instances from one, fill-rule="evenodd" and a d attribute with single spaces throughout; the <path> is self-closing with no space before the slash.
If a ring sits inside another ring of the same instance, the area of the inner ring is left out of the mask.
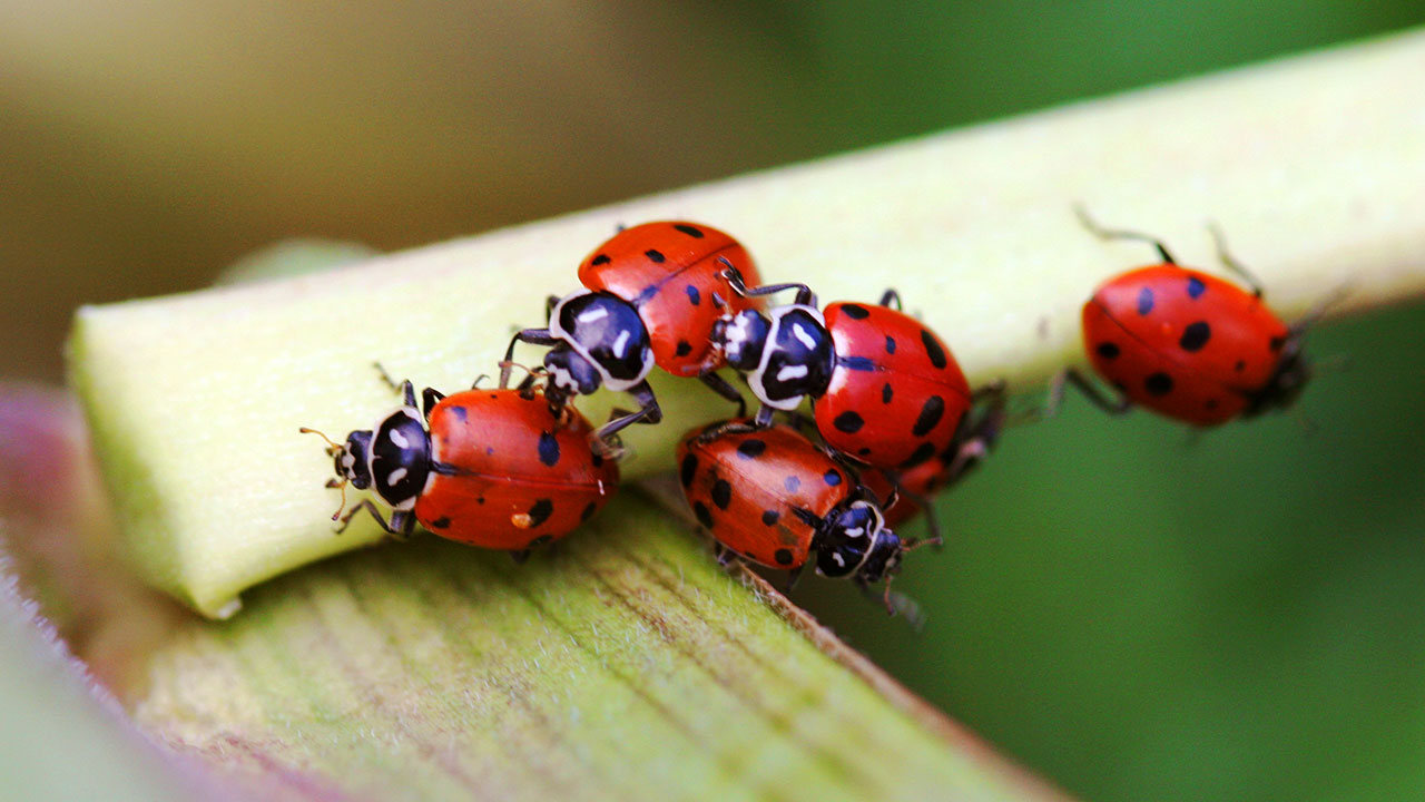
<path id="1" fill-rule="evenodd" d="M 1083 344 L 1094 370 L 1121 394 L 1102 395 L 1077 372 L 1056 378 L 1099 407 L 1124 412 L 1133 404 L 1213 427 L 1290 407 L 1311 370 L 1301 352 L 1305 324 L 1288 327 L 1263 303 L 1261 284 L 1226 250 L 1213 228 L 1223 264 L 1250 290 L 1177 264 L 1163 243 L 1134 231 L 1099 227 L 1083 210 L 1084 225 L 1104 240 L 1151 243 L 1160 264 L 1104 281 L 1083 305 Z"/>

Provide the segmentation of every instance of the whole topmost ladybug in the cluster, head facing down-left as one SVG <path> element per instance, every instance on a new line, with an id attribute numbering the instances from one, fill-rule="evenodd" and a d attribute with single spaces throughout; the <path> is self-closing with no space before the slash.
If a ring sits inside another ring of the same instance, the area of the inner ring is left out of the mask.
<path id="1" fill-rule="evenodd" d="M 510 340 L 502 380 L 509 377 L 516 342 L 532 342 L 550 347 L 544 394 L 556 407 L 600 385 L 630 392 L 640 408 L 601 427 L 601 441 L 633 422 L 663 420 L 647 381 L 653 365 L 698 377 L 742 404 L 741 394 L 712 372 L 724 358 L 711 333 L 722 308 L 758 308 L 761 300 L 724 298 L 725 268 L 757 275 L 747 250 L 710 225 L 663 221 L 624 228 L 579 265 L 583 290 L 550 297 L 546 328 L 526 328 Z"/>

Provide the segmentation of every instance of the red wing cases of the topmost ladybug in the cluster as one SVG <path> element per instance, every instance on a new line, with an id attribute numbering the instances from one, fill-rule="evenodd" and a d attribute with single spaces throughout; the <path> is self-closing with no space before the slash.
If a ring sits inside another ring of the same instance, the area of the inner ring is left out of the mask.
<path id="1" fill-rule="evenodd" d="M 720 277 L 728 265 L 758 281 L 752 257 L 730 234 L 701 223 L 658 221 L 624 228 L 594 248 L 579 265 L 579 280 L 633 304 L 654 364 L 693 377 L 724 364 L 710 337 L 724 313 L 712 294 L 732 313 L 762 307 L 760 298 L 728 291 Z"/>

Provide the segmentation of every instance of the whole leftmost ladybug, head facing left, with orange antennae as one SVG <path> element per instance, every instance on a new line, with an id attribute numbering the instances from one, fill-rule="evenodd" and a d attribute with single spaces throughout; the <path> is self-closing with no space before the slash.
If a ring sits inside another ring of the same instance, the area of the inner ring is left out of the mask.
<path id="1" fill-rule="evenodd" d="M 365 509 L 393 535 L 409 535 L 419 522 L 522 561 L 591 518 L 618 488 L 618 467 L 590 450 L 593 427 L 583 415 L 573 408 L 556 415 L 532 384 L 449 397 L 426 388 L 422 412 L 415 388 L 402 382 L 393 412 L 341 445 L 328 440 L 338 475 L 328 487 L 341 487 L 343 499 L 346 484 L 372 489 L 392 508 L 388 521 L 363 499 L 338 531 Z"/>

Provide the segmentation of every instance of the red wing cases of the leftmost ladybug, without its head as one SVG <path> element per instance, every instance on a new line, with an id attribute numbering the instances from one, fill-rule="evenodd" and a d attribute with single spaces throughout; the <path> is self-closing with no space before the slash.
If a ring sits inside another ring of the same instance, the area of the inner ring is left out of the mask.
<path id="1" fill-rule="evenodd" d="M 470 390 L 429 417 L 436 471 L 415 515 L 432 532 L 483 548 L 522 551 L 559 539 L 618 489 L 618 465 L 590 450 L 589 421 L 556 418 L 540 395 Z"/>

